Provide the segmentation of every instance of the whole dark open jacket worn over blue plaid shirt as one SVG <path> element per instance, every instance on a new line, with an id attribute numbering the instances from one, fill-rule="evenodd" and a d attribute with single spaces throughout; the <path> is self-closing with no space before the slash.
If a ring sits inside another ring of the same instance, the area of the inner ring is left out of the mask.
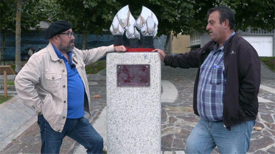
<path id="1" fill-rule="evenodd" d="M 198 68 L 193 97 L 193 109 L 197 115 L 197 85 L 200 66 L 215 43 L 210 41 L 200 49 L 164 58 L 164 64 L 174 68 Z M 224 43 L 223 50 L 226 72 L 223 123 L 230 130 L 232 125 L 254 120 L 257 117 L 261 63 L 256 50 L 238 34 L 233 35 Z"/>

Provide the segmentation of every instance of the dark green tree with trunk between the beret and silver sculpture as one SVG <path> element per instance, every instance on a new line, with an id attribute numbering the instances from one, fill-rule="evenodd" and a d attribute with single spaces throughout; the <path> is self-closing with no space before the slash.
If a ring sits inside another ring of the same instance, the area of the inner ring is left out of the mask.
<path id="1" fill-rule="evenodd" d="M 67 20 L 73 30 L 83 35 L 82 49 L 86 49 L 87 34 L 103 34 L 109 29 L 113 16 L 119 8 L 115 0 L 56 0 L 59 15 L 53 20 Z"/>

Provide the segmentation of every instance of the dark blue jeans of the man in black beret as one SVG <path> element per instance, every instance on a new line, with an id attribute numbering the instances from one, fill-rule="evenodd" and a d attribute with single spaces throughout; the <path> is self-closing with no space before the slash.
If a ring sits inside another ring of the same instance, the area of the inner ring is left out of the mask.
<path id="1" fill-rule="evenodd" d="M 83 145 L 87 153 L 103 153 L 103 138 L 84 117 L 66 119 L 61 133 L 54 131 L 43 115 L 38 115 L 37 123 L 41 133 L 41 153 L 59 153 L 66 135 Z"/>

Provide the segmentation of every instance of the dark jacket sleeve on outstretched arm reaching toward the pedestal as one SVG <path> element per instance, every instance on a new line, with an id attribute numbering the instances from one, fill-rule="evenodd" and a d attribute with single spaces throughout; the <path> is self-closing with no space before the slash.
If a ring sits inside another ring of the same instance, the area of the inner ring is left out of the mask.
<path id="1" fill-rule="evenodd" d="M 185 54 L 176 54 L 165 56 L 164 65 L 173 68 L 197 68 L 199 66 L 199 58 L 202 48 L 190 51 Z"/>

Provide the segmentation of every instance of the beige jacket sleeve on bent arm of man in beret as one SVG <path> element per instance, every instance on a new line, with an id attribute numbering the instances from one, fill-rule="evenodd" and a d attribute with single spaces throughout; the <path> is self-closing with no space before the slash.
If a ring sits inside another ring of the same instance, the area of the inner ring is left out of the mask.
<path id="1" fill-rule="evenodd" d="M 17 94 L 23 100 L 23 104 L 37 113 L 41 112 L 41 100 L 35 89 L 41 75 L 41 65 L 38 61 L 38 57 L 32 55 L 14 80 Z"/>

